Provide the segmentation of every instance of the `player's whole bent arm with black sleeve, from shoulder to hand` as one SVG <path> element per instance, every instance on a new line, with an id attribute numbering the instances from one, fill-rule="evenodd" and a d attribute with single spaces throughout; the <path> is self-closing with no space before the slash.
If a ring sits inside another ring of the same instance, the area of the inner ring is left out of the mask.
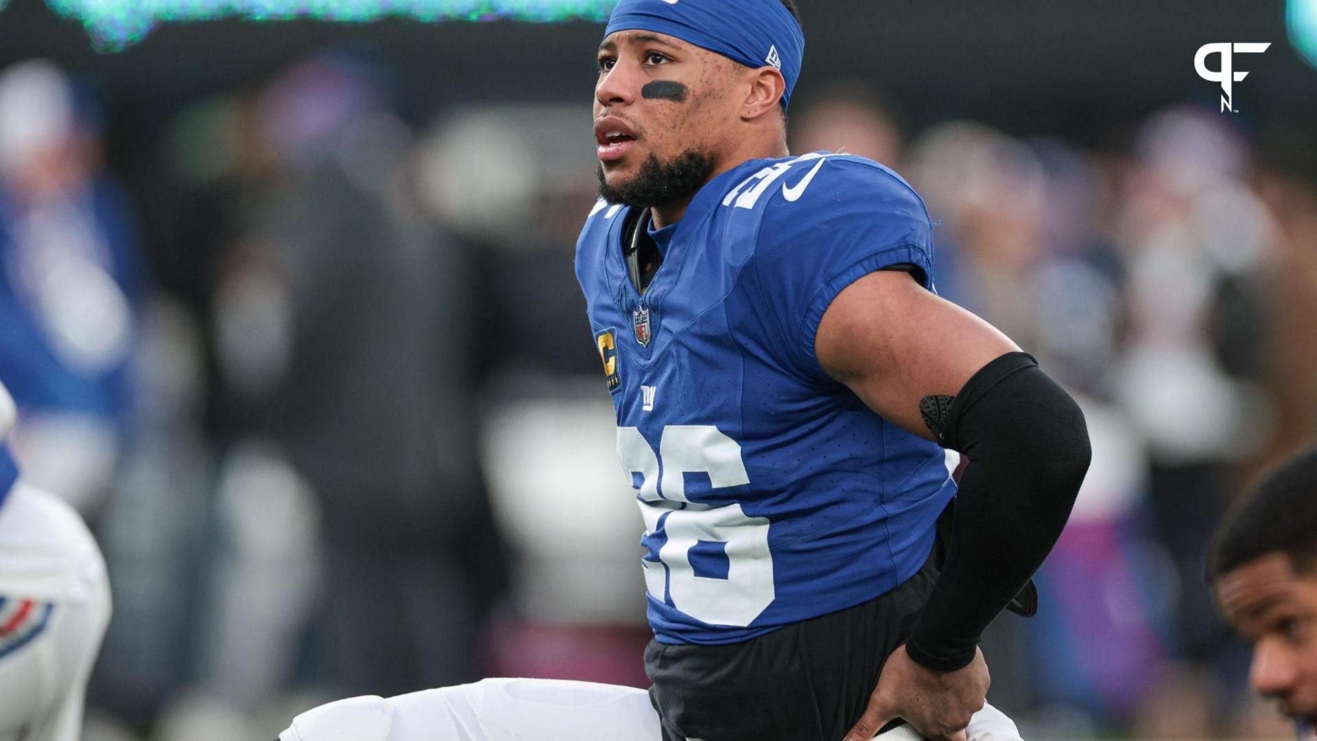
<path id="1" fill-rule="evenodd" d="M 1088 469 L 1084 418 L 1018 351 L 898 270 L 853 282 L 819 323 L 815 352 L 832 377 L 885 419 L 972 461 L 928 607 L 847 741 L 871 738 L 893 717 L 930 738 L 963 738 L 989 684 L 979 636 L 1065 523 Z"/>

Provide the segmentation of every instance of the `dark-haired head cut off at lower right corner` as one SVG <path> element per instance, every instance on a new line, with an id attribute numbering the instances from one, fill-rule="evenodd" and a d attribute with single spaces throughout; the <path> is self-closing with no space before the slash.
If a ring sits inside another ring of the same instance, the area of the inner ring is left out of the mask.
<path id="1" fill-rule="evenodd" d="M 1252 688 L 1317 725 L 1317 448 L 1272 471 L 1226 516 L 1208 581 L 1252 646 Z"/>

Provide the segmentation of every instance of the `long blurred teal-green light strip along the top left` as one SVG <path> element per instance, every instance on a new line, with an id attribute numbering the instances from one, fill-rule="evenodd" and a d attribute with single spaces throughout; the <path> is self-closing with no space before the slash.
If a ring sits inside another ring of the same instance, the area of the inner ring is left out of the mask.
<path id="1" fill-rule="evenodd" d="M 0 0 L 0 8 L 8 1 Z M 119 51 L 145 38 L 161 22 L 219 18 L 605 21 L 618 0 L 46 0 L 46 4 L 61 16 L 82 22 L 97 49 Z"/>

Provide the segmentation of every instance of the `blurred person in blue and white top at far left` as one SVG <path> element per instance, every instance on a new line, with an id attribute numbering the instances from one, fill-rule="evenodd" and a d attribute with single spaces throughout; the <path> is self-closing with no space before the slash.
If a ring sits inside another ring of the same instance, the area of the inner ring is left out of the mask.
<path id="1" fill-rule="evenodd" d="M 84 513 L 124 446 L 146 282 L 87 103 L 50 62 L 0 75 L 0 380 L 28 479 Z"/>

